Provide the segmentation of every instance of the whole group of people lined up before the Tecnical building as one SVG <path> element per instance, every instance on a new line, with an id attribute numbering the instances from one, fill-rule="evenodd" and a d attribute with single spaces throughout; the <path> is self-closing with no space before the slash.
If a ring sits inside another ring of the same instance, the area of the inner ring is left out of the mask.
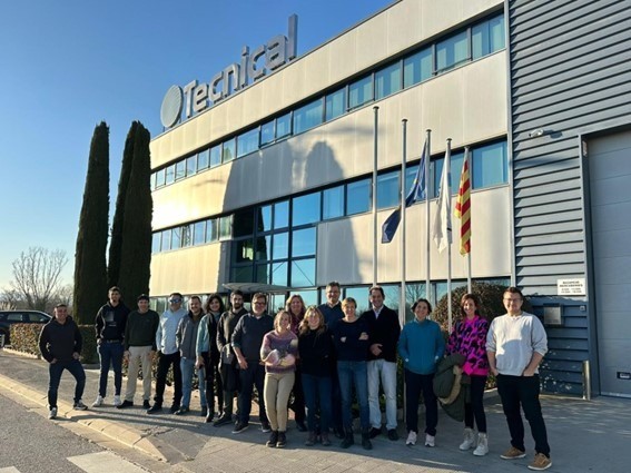
<path id="1" fill-rule="evenodd" d="M 525 456 L 523 408 L 535 441 L 535 457 L 529 467 L 545 470 L 552 464 L 538 376 L 548 341 L 541 322 L 521 309 L 523 296 L 515 287 L 507 288 L 503 295 L 506 314 L 491 323 L 480 314 L 479 298 L 465 294 L 460 305 L 461 317 L 446 342 L 440 325 L 428 318 L 432 306 L 427 299 L 414 303 L 414 318 L 402 329 L 398 314 L 384 304 L 385 293 L 379 286 L 368 289 L 371 308 L 361 315 L 354 298 L 339 300 L 341 286 L 336 282 L 327 285 L 325 304 L 306 307 L 299 295 L 292 295 L 275 316 L 267 312 L 265 294 L 255 294 L 252 309 L 246 311 L 239 290 L 231 293 L 227 311 L 218 295 L 209 296 L 204 308 L 201 299 L 193 296 L 187 311 L 183 307 L 181 294 L 174 293 L 162 315 L 149 308 L 146 295 L 138 297 L 138 309 L 134 312 L 121 302 L 117 287 L 110 288 L 108 295 L 108 303 L 99 309 L 95 323 L 100 358 L 95 407 L 105 403 L 110 365 L 115 372 L 114 404 L 118 408 L 132 406 L 141 366 L 142 406 L 148 414 L 161 412 L 167 373 L 172 366 L 175 390 L 170 412 L 176 415 L 189 413 L 194 373 L 197 373 L 201 415 L 206 422 L 215 426 L 233 423 L 236 395 L 233 433 L 244 432 L 249 427 L 256 387 L 262 431 L 269 433 L 268 446 L 286 445 L 288 410 L 292 408 L 297 430 L 307 432 L 305 445 L 316 442 L 331 445 L 332 433 L 342 440 L 343 449 L 348 449 L 355 443 L 352 405 L 356 400 L 361 444 L 371 450 L 371 440 L 382 433 L 391 441 L 398 440 L 398 354 L 405 378 L 406 444 L 417 442 L 418 404 L 423 395 L 424 444 L 433 447 L 438 423 L 435 375 L 441 363 L 457 359 L 457 380 L 466 386 L 467 393 L 462 397 L 464 438 L 460 450 L 473 449 L 477 456 L 489 453 L 483 396 L 492 373 L 511 435 L 511 446 L 502 459 Z M 81 402 L 86 381 L 79 363 L 81 345 L 81 335 L 67 315 L 67 307 L 57 306 L 55 318 L 40 335 L 40 349 L 50 363 L 50 418 L 57 415 L 57 390 L 65 368 L 77 380 L 75 408 L 87 408 Z M 158 366 L 151 405 L 150 371 L 156 352 Z M 122 400 L 124 358 L 128 361 L 129 371 Z M 441 397 L 440 401 L 453 400 Z"/>

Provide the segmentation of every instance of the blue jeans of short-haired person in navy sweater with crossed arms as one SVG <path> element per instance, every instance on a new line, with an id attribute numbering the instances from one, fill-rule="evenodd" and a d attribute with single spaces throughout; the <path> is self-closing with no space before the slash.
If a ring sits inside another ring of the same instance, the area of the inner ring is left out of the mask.
<path id="1" fill-rule="evenodd" d="M 337 375 L 339 377 L 339 390 L 342 392 L 342 423 L 346 432 L 353 431 L 353 386 L 359 403 L 359 422 L 362 430 L 371 427 L 371 415 L 368 408 L 368 375 L 366 362 L 337 361 Z"/>

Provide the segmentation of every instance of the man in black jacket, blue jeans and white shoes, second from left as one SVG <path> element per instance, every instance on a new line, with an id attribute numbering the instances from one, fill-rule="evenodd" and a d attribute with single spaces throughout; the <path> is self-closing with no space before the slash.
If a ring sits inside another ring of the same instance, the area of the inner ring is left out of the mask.
<path id="1" fill-rule="evenodd" d="M 114 405 L 122 404 L 120 388 L 122 386 L 122 338 L 129 309 L 120 299 L 120 289 L 116 286 L 108 290 L 108 303 L 97 313 L 95 329 L 97 332 L 97 349 L 100 361 L 99 395 L 92 407 L 103 405 L 107 392 L 107 376 L 109 366 L 114 368 Z"/>

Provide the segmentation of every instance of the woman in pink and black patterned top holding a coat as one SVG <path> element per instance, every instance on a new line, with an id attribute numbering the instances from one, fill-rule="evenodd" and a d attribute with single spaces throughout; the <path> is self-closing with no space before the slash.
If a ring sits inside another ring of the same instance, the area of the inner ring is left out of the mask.
<path id="1" fill-rule="evenodd" d="M 484 414 L 484 387 L 489 375 L 486 358 L 486 333 L 489 322 L 480 315 L 480 299 L 474 294 L 465 294 L 460 302 L 462 319 L 450 335 L 446 354 L 460 353 L 466 357 L 463 372 L 471 377 L 471 402 L 464 405 L 464 441 L 460 450 L 475 446 L 473 454 L 484 456 L 489 453 L 486 436 L 486 415 Z M 477 442 L 473 421 L 477 425 Z"/>

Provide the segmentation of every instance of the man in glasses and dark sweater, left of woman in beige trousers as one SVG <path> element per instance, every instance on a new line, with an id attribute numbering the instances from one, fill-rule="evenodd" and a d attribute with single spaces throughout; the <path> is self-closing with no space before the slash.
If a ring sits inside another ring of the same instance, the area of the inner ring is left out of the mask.
<path id="1" fill-rule="evenodd" d="M 267 315 L 267 296 L 257 293 L 252 298 L 252 311 L 244 315 L 233 334 L 233 348 L 237 355 L 239 367 L 240 391 L 238 395 L 239 420 L 233 430 L 239 434 L 249 426 L 252 411 L 252 393 L 254 386 L 258 393 L 258 418 L 264 433 L 272 431 L 265 413 L 263 385 L 265 383 L 265 366 L 260 364 L 260 345 L 266 333 L 274 329 L 274 319 Z"/>

